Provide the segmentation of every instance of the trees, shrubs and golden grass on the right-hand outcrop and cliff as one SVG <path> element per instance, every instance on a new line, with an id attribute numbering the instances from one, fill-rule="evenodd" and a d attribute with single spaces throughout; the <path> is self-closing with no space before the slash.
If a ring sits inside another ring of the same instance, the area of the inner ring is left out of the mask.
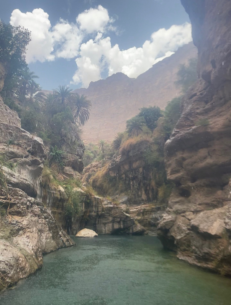
<path id="1" fill-rule="evenodd" d="M 181 85 L 182 92 L 196 81 L 195 70 L 194 59 L 180 66 L 177 85 Z M 117 133 L 111 145 L 101 141 L 103 153 L 96 145 L 87 147 L 85 165 L 104 160 L 89 181 L 96 192 L 111 196 L 123 193 L 136 200 L 139 188 L 144 188 L 146 196 L 141 194 L 141 200 L 167 203 L 172 185 L 165 171 L 164 143 L 181 115 L 181 99 L 172 99 L 164 111 L 156 106 L 141 108 L 127 120 L 126 130 Z"/>

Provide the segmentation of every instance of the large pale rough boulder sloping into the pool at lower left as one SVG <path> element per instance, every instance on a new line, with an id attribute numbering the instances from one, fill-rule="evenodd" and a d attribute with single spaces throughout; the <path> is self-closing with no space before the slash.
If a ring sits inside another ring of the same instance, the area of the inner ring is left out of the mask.
<path id="1" fill-rule="evenodd" d="M 34 273 L 43 264 L 43 253 L 72 246 L 73 241 L 42 202 L 18 188 L 0 192 L 9 206 L 9 217 L 0 223 L 0 290 Z"/>

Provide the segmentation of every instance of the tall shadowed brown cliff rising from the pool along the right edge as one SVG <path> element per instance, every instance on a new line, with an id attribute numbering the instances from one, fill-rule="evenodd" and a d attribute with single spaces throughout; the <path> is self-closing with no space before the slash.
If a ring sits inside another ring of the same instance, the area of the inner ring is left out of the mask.
<path id="1" fill-rule="evenodd" d="M 181 2 L 192 22 L 199 79 L 165 144 L 175 189 L 159 237 L 190 264 L 230 275 L 231 2 Z"/>

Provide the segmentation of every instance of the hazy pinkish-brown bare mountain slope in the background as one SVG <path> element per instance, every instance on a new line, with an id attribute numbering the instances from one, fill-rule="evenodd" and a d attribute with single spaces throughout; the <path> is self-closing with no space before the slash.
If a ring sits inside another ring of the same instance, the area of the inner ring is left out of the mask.
<path id="1" fill-rule="evenodd" d="M 91 82 L 87 89 L 74 90 L 92 102 L 82 138 L 90 142 L 112 140 L 118 131 L 125 130 L 126 120 L 136 115 L 139 108 L 156 105 L 164 109 L 168 101 L 180 95 L 174 84 L 179 65 L 195 57 L 197 49 L 189 43 L 136 79 L 117 73 Z"/>

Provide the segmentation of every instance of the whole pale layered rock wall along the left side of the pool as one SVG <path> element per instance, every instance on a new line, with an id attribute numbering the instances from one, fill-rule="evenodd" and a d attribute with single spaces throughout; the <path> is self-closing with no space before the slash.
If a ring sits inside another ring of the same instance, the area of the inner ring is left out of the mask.
<path id="1" fill-rule="evenodd" d="M 20 125 L 17 113 L 0 98 L 0 155 L 17 164 L 9 169 L 3 162 L 0 168 L 6 179 L 0 183 L 0 207 L 8 214 L 0 217 L 0 290 L 42 267 L 43 253 L 73 245 L 49 209 L 62 205 L 64 191 L 47 190 L 47 196 L 41 191 L 43 141 Z"/>

